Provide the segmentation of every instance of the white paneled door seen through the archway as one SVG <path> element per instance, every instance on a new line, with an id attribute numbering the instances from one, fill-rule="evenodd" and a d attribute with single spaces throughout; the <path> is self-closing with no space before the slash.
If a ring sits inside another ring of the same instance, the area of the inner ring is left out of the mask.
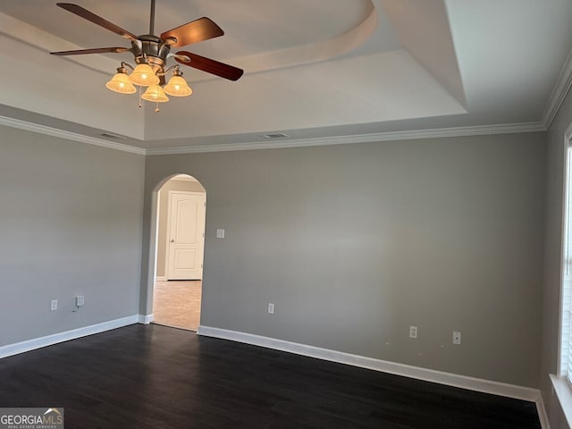
<path id="1" fill-rule="evenodd" d="M 206 194 L 169 192 L 168 280 L 201 280 L 205 247 Z"/>

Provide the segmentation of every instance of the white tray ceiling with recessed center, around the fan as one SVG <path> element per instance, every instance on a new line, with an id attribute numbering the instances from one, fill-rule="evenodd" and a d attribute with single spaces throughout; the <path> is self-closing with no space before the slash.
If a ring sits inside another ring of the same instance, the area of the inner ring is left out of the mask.
<path id="1" fill-rule="evenodd" d="M 74 1 L 148 32 L 150 1 Z M 55 2 L 0 2 L 0 123 L 112 133 L 147 153 L 543 130 L 571 79 L 570 0 L 156 0 L 155 33 L 201 16 L 225 35 L 182 49 L 245 74 L 184 67 L 193 95 L 155 113 L 105 89 L 130 53 L 48 55 L 129 41 Z M 275 132 L 289 137 L 261 137 Z"/>

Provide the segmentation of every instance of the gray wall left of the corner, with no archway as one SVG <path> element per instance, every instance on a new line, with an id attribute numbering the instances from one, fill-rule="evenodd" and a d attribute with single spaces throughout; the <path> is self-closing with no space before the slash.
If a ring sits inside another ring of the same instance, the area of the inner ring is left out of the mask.
<path id="1" fill-rule="evenodd" d="M 137 315 L 144 157 L 0 133 L 0 346 Z"/>

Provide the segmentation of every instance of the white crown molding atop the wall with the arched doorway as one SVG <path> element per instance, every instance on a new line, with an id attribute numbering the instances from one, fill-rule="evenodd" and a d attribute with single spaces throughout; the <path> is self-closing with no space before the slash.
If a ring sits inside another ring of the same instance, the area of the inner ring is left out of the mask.
<path id="1" fill-rule="evenodd" d="M 439 139 L 446 137 L 483 136 L 490 134 L 514 134 L 521 132 L 546 131 L 542 122 L 507 123 L 499 125 L 478 125 L 474 127 L 441 128 L 434 130 L 408 130 L 358 134 L 354 136 L 321 137 L 315 139 L 284 139 L 280 141 L 254 141 L 248 143 L 229 143 L 222 145 L 200 145 L 187 147 L 151 148 L 145 151 L 147 156 L 184 155 L 207 152 L 230 152 L 235 150 L 282 149 L 288 147 L 315 147 L 348 145 L 355 143 L 374 143 L 391 140 Z"/>

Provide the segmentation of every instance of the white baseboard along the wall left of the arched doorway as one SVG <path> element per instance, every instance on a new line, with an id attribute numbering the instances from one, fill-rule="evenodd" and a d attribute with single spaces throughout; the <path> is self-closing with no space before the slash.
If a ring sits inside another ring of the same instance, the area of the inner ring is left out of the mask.
<path id="1" fill-rule="evenodd" d="M 42 347 L 51 346 L 58 342 L 75 340 L 77 338 L 93 335 L 94 333 L 110 331 L 112 329 L 121 328 L 130 324 L 137 324 L 139 315 L 130 315 L 121 319 L 110 320 L 101 324 L 92 324 L 71 331 L 58 332 L 45 337 L 34 338 L 28 341 L 21 341 L 15 344 L 8 344 L 0 347 L 0 358 L 17 355 L 26 351 L 41 349 Z"/>

